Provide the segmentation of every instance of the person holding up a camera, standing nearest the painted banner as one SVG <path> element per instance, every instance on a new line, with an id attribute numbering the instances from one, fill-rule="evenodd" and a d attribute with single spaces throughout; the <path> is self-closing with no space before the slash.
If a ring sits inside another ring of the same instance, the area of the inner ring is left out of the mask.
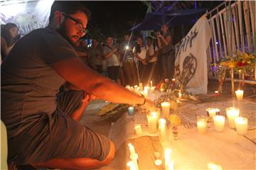
<path id="1" fill-rule="evenodd" d="M 161 69 L 161 79 L 170 79 L 174 76 L 174 45 L 171 42 L 171 33 L 166 24 L 161 26 L 161 32 L 156 33 L 159 45 L 159 60 Z"/>

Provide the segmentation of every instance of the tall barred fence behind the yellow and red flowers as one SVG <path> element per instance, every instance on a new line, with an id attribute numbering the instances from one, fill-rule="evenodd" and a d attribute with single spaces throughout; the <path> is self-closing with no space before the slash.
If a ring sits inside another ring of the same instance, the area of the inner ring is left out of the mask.
<path id="1" fill-rule="evenodd" d="M 208 76 L 215 77 L 212 64 L 226 56 L 236 57 L 240 52 L 255 52 L 255 1 L 224 1 L 207 13 L 212 28 L 212 38 L 208 48 Z M 234 79 L 231 72 L 232 90 L 234 82 L 256 84 L 256 65 L 254 80 Z"/>

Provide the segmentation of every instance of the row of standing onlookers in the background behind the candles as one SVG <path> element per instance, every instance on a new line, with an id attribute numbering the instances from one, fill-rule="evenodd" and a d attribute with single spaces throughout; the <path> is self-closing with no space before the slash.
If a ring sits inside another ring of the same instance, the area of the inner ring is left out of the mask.
<path id="1" fill-rule="evenodd" d="M 80 40 L 75 50 L 85 64 L 122 86 L 135 86 L 139 82 L 146 86 L 150 81 L 157 84 L 174 77 L 174 46 L 165 24 L 146 40 L 142 36 L 134 38 L 128 32 L 120 44 L 114 45 L 112 36 L 107 35 L 105 42 L 93 39 L 91 47 L 87 47 L 86 40 Z"/>

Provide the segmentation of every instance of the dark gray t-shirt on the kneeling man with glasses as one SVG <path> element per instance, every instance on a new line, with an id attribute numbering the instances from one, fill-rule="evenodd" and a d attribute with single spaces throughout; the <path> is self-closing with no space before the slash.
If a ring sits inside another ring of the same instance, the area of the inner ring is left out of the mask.
<path id="1" fill-rule="evenodd" d="M 26 128 L 31 115 L 55 111 L 65 79 L 52 65 L 71 57 L 78 57 L 73 47 L 50 28 L 33 30 L 18 40 L 1 64 L 1 119 L 9 137 Z"/>

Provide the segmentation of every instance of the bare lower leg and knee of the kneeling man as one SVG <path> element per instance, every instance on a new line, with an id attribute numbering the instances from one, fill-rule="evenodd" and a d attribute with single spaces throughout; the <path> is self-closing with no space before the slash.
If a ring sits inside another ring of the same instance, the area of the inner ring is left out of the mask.
<path id="1" fill-rule="evenodd" d="M 88 157 L 74 158 L 74 159 L 50 159 L 48 162 L 39 162 L 31 164 L 36 169 L 39 168 L 50 168 L 50 169 L 73 169 L 73 170 L 84 170 L 84 169 L 96 169 L 101 166 L 110 164 L 114 158 L 114 144 L 110 142 L 110 152 L 106 159 L 99 161 L 97 159 L 91 159 Z"/>

